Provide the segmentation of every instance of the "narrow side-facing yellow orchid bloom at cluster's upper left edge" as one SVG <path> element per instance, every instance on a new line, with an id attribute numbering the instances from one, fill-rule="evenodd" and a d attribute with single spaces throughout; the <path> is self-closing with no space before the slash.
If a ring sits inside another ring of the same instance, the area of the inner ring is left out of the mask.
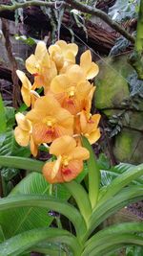
<path id="1" fill-rule="evenodd" d="M 22 82 L 21 95 L 24 103 L 27 106 L 33 106 L 38 98 L 38 94 L 33 91 L 35 89 L 34 85 L 31 85 L 31 81 L 27 78 L 23 71 L 16 70 L 16 74 Z"/>

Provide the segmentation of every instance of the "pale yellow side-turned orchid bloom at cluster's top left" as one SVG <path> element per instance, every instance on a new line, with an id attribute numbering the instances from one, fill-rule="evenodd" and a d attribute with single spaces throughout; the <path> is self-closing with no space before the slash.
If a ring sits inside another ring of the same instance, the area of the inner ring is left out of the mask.
<path id="1" fill-rule="evenodd" d="M 46 90 L 49 88 L 57 70 L 43 41 L 37 43 L 34 55 L 27 58 L 26 68 L 34 76 L 35 87 L 43 86 Z"/>

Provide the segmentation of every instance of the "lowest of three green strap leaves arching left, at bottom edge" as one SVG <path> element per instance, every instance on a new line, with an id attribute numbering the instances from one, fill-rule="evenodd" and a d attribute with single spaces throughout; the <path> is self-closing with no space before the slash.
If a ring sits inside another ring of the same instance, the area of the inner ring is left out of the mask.
<path id="1" fill-rule="evenodd" d="M 31 246 L 46 240 L 51 243 L 67 244 L 75 256 L 81 252 L 80 244 L 70 232 L 56 228 L 37 228 L 21 233 L 0 244 L 0 256 L 17 256 Z"/>

